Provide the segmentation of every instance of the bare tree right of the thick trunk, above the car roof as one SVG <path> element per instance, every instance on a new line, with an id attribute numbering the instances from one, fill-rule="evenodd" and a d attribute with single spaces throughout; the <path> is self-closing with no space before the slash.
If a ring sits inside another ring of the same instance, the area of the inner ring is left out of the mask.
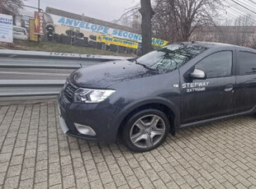
<path id="1" fill-rule="evenodd" d="M 220 0 L 156 1 L 159 8 L 155 10 L 154 23 L 159 26 L 154 25 L 154 30 L 172 30 L 170 40 L 175 41 L 187 41 L 198 27 L 215 25 L 216 9 L 221 5 Z"/>

